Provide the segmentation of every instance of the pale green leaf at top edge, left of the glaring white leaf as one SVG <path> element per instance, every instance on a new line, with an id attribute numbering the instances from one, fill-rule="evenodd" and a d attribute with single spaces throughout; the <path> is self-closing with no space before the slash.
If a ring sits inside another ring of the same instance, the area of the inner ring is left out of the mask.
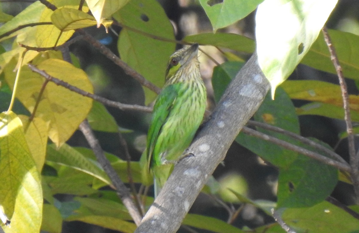
<path id="1" fill-rule="evenodd" d="M 264 0 L 200 0 L 200 4 L 206 11 L 213 30 L 216 31 L 243 19 L 255 10 L 262 1 Z"/>

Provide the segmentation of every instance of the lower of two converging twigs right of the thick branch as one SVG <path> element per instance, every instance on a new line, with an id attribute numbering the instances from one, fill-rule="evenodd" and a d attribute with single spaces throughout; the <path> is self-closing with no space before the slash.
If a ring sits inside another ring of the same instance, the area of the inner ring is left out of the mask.
<path id="1" fill-rule="evenodd" d="M 279 145 L 279 146 L 282 146 L 284 147 L 285 149 L 288 149 L 288 150 L 292 150 L 292 151 L 296 151 L 296 152 L 299 152 L 300 154 L 303 154 L 303 155 L 306 155 L 308 157 L 311 157 L 312 159 L 316 159 L 318 161 L 321 161 L 323 162 L 324 164 L 327 164 L 327 165 L 330 165 L 330 166 L 334 166 L 335 168 L 338 168 L 342 171 L 347 171 L 347 172 L 350 172 L 350 166 L 347 165 L 347 164 L 343 164 L 341 162 L 338 162 L 336 160 L 332 160 L 328 157 L 325 157 L 321 154 L 318 154 L 316 152 L 313 152 L 313 151 L 310 151 L 310 150 L 307 150 L 307 149 L 304 149 L 300 146 L 296 146 L 296 145 L 293 145 L 293 144 L 290 144 L 289 142 L 286 142 L 286 141 L 283 141 L 283 140 L 280 140 L 280 139 L 277 139 L 275 137 L 272 137 L 272 136 L 269 136 L 269 135 L 266 135 L 266 134 L 263 134 L 261 132 L 258 132 L 256 130 L 253 130 L 251 128 L 248 128 L 248 127 L 243 127 L 242 128 L 242 132 L 244 132 L 245 134 L 248 134 L 248 135 L 251 135 L 251 136 L 255 136 L 255 137 L 258 137 L 260 139 L 263 139 L 263 140 L 266 140 L 266 141 L 270 141 L 270 142 L 273 142 L 274 144 L 276 145 Z"/>

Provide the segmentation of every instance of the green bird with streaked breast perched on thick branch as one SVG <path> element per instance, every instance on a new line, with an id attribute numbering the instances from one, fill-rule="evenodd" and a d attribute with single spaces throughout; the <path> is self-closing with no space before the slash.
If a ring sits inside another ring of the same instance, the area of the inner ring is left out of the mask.
<path id="1" fill-rule="evenodd" d="M 206 109 L 206 87 L 197 58 L 198 44 L 169 58 L 165 84 L 157 96 L 147 136 L 148 171 L 154 175 L 155 197 L 173 164 L 185 157 Z"/>

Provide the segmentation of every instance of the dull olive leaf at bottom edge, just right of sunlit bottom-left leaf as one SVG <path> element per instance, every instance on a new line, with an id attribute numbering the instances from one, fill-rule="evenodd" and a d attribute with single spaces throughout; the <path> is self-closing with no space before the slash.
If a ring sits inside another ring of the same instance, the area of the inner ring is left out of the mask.
<path id="1" fill-rule="evenodd" d="M 49 233 L 61 233 L 62 217 L 60 211 L 53 205 L 44 204 L 41 230 Z"/>

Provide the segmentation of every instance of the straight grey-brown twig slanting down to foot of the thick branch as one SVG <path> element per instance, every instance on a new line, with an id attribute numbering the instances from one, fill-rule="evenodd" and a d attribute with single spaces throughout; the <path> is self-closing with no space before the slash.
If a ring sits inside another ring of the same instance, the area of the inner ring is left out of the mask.
<path id="1" fill-rule="evenodd" d="M 84 134 L 88 144 L 93 150 L 97 161 L 101 164 L 103 170 L 106 172 L 108 177 L 111 179 L 113 186 L 116 187 L 116 193 L 120 197 L 123 205 L 129 210 L 129 214 L 134 220 L 135 224 L 138 226 L 141 222 L 141 214 L 136 208 L 136 205 L 132 202 L 131 194 L 125 184 L 123 184 L 120 177 L 117 175 L 115 169 L 111 166 L 111 163 L 107 160 L 98 140 L 95 138 L 95 135 L 90 128 L 90 125 L 87 120 L 84 120 L 79 129 Z"/>

